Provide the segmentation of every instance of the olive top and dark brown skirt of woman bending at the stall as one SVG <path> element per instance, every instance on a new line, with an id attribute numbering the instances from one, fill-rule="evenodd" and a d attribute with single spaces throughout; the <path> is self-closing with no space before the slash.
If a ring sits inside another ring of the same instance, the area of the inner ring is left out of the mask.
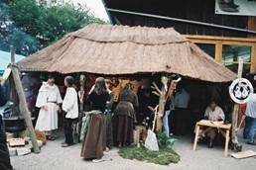
<path id="1" fill-rule="evenodd" d="M 133 122 L 135 108 L 139 106 L 138 97 L 132 90 L 120 92 L 112 119 L 114 145 L 128 145 L 133 142 Z"/>

